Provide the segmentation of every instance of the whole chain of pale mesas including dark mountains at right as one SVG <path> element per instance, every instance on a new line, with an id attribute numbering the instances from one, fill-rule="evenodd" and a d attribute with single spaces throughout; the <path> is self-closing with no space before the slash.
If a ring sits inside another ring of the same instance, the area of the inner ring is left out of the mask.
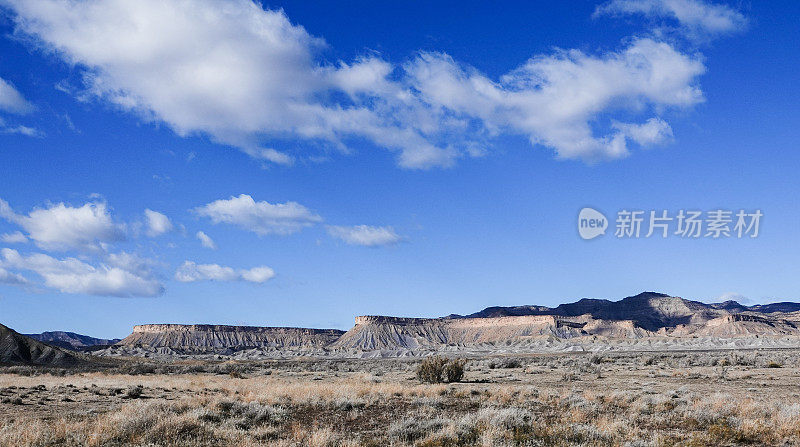
<path id="1" fill-rule="evenodd" d="M 800 347 L 800 304 L 704 304 L 645 292 L 554 308 L 490 307 L 443 318 L 356 317 L 347 331 L 214 325 L 142 325 L 100 355 L 232 358 L 398 356 L 431 352 Z"/>

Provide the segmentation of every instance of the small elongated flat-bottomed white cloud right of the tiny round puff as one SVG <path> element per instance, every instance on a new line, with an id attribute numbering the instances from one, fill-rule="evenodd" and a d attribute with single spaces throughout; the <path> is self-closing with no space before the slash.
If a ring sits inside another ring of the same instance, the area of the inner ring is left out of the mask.
<path id="1" fill-rule="evenodd" d="M 322 221 L 321 217 L 297 202 L 256 202 L 247 194 L 215 200 L 194 211 L 215 224 L 237 225 L 258 235 L 296 233 Z"/>

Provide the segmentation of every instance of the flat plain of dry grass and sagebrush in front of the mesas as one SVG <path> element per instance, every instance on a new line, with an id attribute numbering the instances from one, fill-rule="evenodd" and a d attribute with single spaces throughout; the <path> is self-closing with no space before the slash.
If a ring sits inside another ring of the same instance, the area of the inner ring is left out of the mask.
<path id="1" fill-rule="evenodd" d="M 800 445 L 800 351 L 119 360 L 0 373 L 0 445 Z"/>

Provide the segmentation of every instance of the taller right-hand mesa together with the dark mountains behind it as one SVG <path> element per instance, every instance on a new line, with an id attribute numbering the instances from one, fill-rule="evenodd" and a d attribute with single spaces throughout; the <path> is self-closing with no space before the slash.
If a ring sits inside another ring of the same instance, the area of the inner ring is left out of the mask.
<path id="1" fill-rule="evenodd" d="M 645 292 L 620 301 L 582 299 L 555 308 L 490 307 L 468 316 L 436 319 L 362 316 L 330 347 L 391 353 L 522 352 L 611 346 L 648 349 L 670 343 L 712 349 L 729 344 L 721 340 L 734 340 L 730 343 L 739 346 L 800 346 L 800 312 L 793 311 L 798 307 L 794 303 L 752 307 L 735 302 L 704 304 Z"/>

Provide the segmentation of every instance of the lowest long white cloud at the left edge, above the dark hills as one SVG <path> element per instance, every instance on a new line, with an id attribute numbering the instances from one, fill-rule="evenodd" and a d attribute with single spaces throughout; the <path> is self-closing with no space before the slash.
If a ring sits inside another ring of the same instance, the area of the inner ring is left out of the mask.
<path id="1" fill-rule="evenodd" d="M 163 285 L 138 258 L 121 254 L 98 267 L 75 258 L 59 260 L 45 254 L 23 256 L 16 250 L 0 251 L 3 268 L 27 270 L 42 277 L 44 286 L 62 293 L 139 297 L 158 296 Z"/>

